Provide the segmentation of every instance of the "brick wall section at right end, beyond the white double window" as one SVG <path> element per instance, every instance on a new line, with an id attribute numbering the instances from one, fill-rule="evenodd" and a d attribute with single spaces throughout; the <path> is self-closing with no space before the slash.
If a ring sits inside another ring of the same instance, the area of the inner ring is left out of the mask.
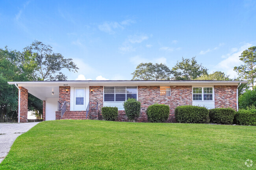
<path id="1" fill-rule="evenodd" d="M 214 86 L 215 108 L 231 107 L 236 110 L 237 86 Z"/>

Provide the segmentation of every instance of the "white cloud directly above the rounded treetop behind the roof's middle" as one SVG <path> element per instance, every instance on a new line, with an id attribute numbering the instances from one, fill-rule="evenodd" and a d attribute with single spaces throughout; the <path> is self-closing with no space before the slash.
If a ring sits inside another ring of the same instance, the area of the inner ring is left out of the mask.
<path id="1" fill-rule="evenodd" d="M 133 63 L 135 66 L 139 65 L 140 63 L 167 63 L 167 59 L 165 57 L 159 57 L 159 58 L 154 58 L 154 59 L 148 59 L 148 58 L 143 58 L 141 56 L 134 56 L 130 58 L 130 62 Z"/>

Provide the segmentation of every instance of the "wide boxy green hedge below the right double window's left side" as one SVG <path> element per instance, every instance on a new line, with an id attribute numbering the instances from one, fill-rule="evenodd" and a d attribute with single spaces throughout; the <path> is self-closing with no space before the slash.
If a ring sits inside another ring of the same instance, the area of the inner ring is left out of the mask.
<path id="1" fill-rule="evenodd" d="M 199 106 L 178 106 L 175 109 L 175 119 L 180 123 L 208 123 L 209 110 Z"/>

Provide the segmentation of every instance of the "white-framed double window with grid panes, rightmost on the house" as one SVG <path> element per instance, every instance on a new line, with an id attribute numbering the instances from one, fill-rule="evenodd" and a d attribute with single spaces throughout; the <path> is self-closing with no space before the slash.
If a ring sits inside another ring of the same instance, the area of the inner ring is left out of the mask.
<path id="1" fill-rule="evenodd" d="M 213 101 L 213 87 L 193 87 L 193 101 Z"/>

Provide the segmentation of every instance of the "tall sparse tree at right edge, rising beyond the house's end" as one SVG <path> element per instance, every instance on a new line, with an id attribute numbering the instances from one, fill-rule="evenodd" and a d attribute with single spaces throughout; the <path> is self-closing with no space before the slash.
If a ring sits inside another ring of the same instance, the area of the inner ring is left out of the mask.
<path id="1" fill-rule="evenodd" d="M 240 79 L 247 80 L 254 87 L 256 78 L 256 46 L 250 47 L 243 51 L 239 60 L 243 61 L 243 65 L 234 67 Z"/>

